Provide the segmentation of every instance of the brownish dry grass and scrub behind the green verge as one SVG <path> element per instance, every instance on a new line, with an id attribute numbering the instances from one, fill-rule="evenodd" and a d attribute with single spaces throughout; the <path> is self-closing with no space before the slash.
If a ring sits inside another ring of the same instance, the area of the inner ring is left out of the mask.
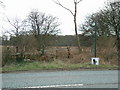
<path id="1" fill-rule="evenodd" d="M 97 42 L 97 57 L 100 58 L 101 64 L 114 64 L 117 65 L 117 50 L 114 46 L 114 38 L 99 38 Z M 9 47 L 12 53 L 15 52 L 15 47 L 13 46 L 3 46 L 3 52 Z M 68 58 L 67 46 L 64 47 L 47 47 L 45 55 L 40 56 L 39 52 L 35 49 L 31 50 L 32 53 L 27 59 L 35 61 L 54 61 L 61 60 L 65 63 L 91 63 L 91 58 L 94 57 L 94 50 L 92 47 L 81 47 L 82 52 L 79 54 L 78 48 L 70 47 L 70 57 Z"/>

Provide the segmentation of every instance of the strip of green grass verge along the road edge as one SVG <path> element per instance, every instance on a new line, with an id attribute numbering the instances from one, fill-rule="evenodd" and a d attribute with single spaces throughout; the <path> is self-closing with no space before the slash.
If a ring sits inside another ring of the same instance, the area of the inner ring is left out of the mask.
<path id="1" fill-rule="evenodd" d="M 85 64 L 65 64 L 62 61 L 53 62 L 27 62 L 13 64 L 2 68 L 3 72 L 11 71 L 29 71 L 29 70 L 73 70 L 73 69 L 117 69 L 116 65 L 92 65 Z"/>

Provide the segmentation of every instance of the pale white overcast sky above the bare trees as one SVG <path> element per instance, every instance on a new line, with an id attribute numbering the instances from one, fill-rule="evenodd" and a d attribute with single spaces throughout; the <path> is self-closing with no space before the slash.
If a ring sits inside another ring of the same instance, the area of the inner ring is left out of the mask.
<path id="1" fill-rule="evenodd" d="M 1 0 L 5 4 L 5 8 L 0 7 L 0 20 L 3 21 L 4 15 L 9 18 L 18 17 L 26 18 L 29 12 L 33 9 L 38 9 L 40 12 L 53 15 L 59 18 L 61 23 L 60 29 L 62 35 L 74 35 L 74 23 L 71 13 L 55 4 L 52 0 Z M 64 6 L 74 11 L 73 0 L 59 0 Z M 77 23 L 78 25 L 84 22 L 87 15 L 98 12 L 107 0 L 82 0 L 78 4 Z M 1 24 L 5 29 L 5 23 Z"/>

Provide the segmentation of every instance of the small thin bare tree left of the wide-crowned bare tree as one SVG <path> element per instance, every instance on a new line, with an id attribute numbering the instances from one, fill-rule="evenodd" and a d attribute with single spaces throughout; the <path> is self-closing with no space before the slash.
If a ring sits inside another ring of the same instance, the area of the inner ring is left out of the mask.
<path id="1" fill-rule="evenodd" d="M 22 44 L 22 31 L 24 30 L 25 22 L 20 20 L 19 18 L 9 19 L 7 18 L 8 23 L 12 26 L 11 29 L 7 31 L 10 34 L 10 38 L 13 39 L 12 45 L 16 47 L 16 61 L 20 61 L 18 59 L 18 54 L 21 54 L 20 58 L 22 58 L 24 45 Z"/>

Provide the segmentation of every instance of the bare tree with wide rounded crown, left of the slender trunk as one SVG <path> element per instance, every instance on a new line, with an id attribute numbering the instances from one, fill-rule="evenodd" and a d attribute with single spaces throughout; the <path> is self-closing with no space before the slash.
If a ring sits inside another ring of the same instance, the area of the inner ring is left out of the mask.
<path id="1" fill-rule="evenodd" d="M 38 44 L 38 51 L 41 51 L 43 55 L 46 46 L 49 44 L 50 36 L 59 33 L 60 29 L 58 27 L 60 24 L 56 17 L 45 15 L 38 10 L 31 11 L 28 20 Z"/>

